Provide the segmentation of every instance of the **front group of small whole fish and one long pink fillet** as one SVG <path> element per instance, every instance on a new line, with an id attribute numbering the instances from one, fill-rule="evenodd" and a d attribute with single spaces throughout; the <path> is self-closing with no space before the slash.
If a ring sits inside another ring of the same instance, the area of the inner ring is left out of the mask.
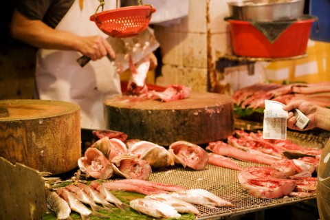
<path id="1" fill-rule="evenodd" d="M 146 196 L 133 199 L 128 205 L 111 193 L 113 189 L 140 192 Z M 120 179 L 102 184 L 91 181 L 89 186 L 69 184 L 47 195 L 47 206 L 56 214 L 57 219 L 71 219 L 72 210 L 78 212 L 82 219 L 93 216 L 107 218 L 113 205 L 124 211 L 131 207 L 155 218 L 179 218 L 179 213 L 201 214 L 194 205 L 208 208 L 233 206 L 208 190 L 186 189 L 183 186 L 141 179 Z"/>

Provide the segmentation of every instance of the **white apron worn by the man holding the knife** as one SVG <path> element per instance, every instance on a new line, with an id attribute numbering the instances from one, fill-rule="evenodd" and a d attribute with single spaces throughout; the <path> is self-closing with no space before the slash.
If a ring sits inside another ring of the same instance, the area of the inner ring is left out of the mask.
<path id="1" fill-rule="evenodd" d="M 83 10 L 80 10 L 79 0 L 74 1 L 56 30 L 79 36 L 98 34 L 107 37 L 94 22 L 89 21 L 98 5 L 98 0 L 85 0 Z M 115 0 L 105 0 L 104 10 L 113 8 Z M 80 56 L 82 54 L 74 51 L 39 50 L 36 65 L 39 98 L 74 102 L 80 106 L 83 129 L 105 129 L 103 101 L 120 94 L 120 77 L 107 57 L 80 67 L 76 62 Z"/>

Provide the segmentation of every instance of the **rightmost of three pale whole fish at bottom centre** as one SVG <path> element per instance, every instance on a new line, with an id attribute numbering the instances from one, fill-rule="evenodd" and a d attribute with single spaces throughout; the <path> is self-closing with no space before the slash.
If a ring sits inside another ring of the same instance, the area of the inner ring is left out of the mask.
<path id="1" fill-rule="evenodd" d="M 180 199 L 188 203 L 207 206 L 210 208 L 234 206 L 229 201 L 221 199 L 217 195 L 214 195 L 212 192 L 199 188 L 170 192 L 169 195 L 171 197 L 175 197 L 176 199 Z"/>

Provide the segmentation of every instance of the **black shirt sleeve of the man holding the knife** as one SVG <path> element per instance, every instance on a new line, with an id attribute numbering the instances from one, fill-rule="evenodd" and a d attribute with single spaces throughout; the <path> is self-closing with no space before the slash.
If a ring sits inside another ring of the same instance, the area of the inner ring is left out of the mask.
<path id="1" fill-rule="evenodd" d="M 28 19 L 41 20 L 55 28 L 73 3 L 74 0 L 16 0 L 15 8 Z"/>

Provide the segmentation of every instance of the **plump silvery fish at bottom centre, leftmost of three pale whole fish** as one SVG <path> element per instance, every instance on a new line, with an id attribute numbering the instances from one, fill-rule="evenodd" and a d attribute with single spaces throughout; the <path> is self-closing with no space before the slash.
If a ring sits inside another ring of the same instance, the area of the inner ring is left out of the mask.
<path id="1" fill-rule="evenodd" d="M 181 214 L 179 214 L 177 210 L 175 210 L 175 208 L 156 199 L 133 199 L 130 201 L 129 205 L 134 210 L 137 210 L 138 212 L 142 212 L 144 214 L 148 214 L 151 217 L 155 218 L 170 219 L 181 217 Z"/>

